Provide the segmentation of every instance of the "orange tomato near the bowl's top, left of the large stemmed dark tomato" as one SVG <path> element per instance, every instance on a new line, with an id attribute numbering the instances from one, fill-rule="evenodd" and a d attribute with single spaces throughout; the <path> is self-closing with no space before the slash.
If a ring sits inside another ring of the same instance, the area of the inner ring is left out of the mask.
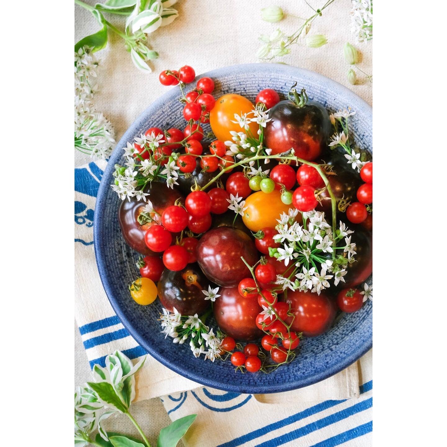
<path id="1" fill-rule="evenodd" d="M 210 112 L 210 126 L 216 138 L 220 141 L 228 141 L 232 138 L 230 131 L 247 132 L 239 124 L 232 121 L 236 121 L 234 114 L 240 116 L 251 112 L 253 109 L 254 105 L 241 95 L 228 93 L 221 96 Z M 250 122 L 249 131 L 255 138 L 258 136 L 258 129 L 259 125 L 256 122 Z"/>

